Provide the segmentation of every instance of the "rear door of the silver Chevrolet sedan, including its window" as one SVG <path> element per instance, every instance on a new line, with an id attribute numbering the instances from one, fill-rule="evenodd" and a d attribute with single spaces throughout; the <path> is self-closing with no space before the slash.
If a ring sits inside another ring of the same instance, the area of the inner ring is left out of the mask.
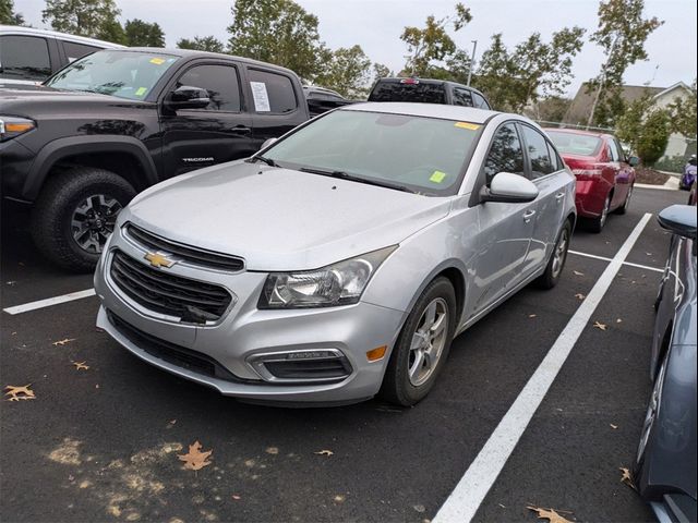
<path id="1" fill-rule="evenodd" d="M 540 131 L 525 123 L 520 123 L 519 127 L 527 153 L 527 172 L 539 190 L 532 209 L 535 212 L 535 227 L 522 269 L 522 276 L 527 277 L 544 264 L 557 241 L 571 177 L 555 148 Z"/>

